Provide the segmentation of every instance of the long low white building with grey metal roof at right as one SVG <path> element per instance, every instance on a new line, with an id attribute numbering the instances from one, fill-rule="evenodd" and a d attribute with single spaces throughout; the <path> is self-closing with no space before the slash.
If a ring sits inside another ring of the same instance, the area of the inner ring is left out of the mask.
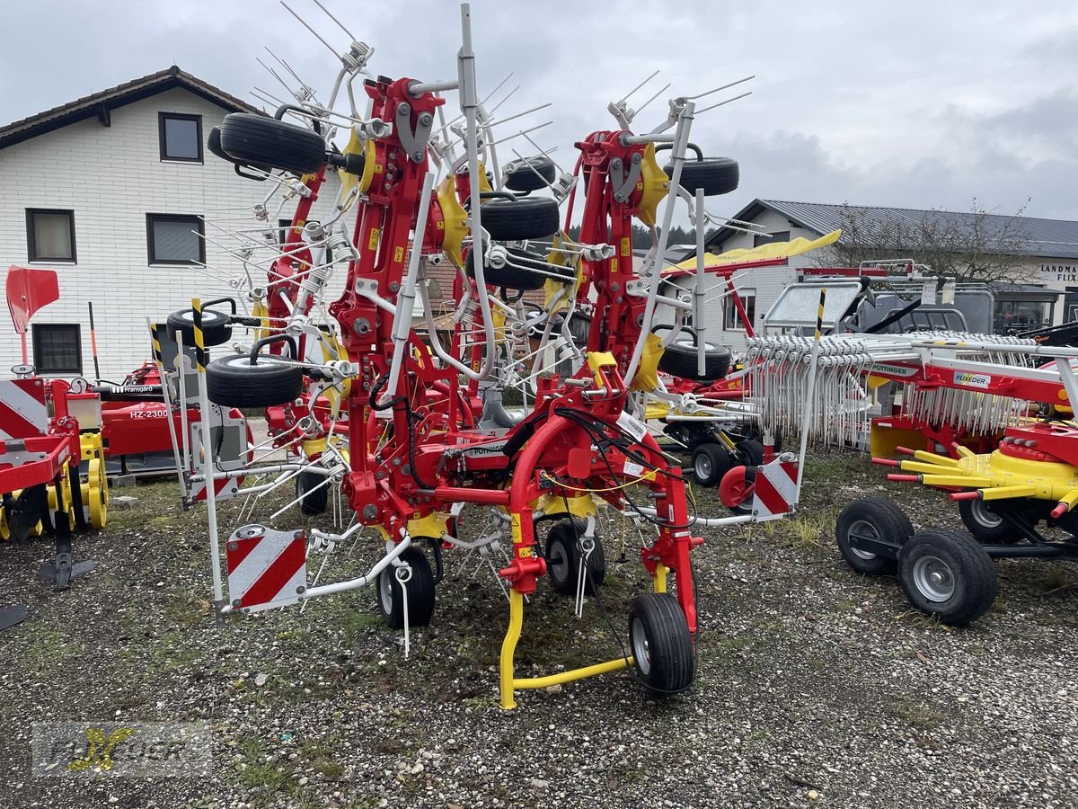
<path id="1" fill-rule="evenodd" d="M 733 228 L 720 228 L 708 236 L 709 252 L 724 252 L 741 247 L 756 247 L 765 242 L 786 242 L 798 237 L 817 238 L 834 230 L 846 228 L 848 217 L 863 222 L 893 222 L 896 220 L 917 223 L 926 218 L 946 218 L 962 227 L 971 214 L 945 210 L 911 210 L 906 208 L 874 208 L 856 205 L 826 205 L 820 203 L 754 200 L 734 219 L 759 225 L 759 233 L 746 233 Z M 991 227 L 995 220 L 1008 217 L 987 216 Z M 1060 324 L 1078 319 L 1078 222 L 1023 217 L 1023 234 L 1014 239 L 1021 251 L 1013 256 L 1017 276 L 1036 284 L 998 285 L 994 292 L 997 315 L 1010 314 L 1015 321 L 1028 326 L 1042 323 Z M 694 252 L 694 251 L 693 251 Z M 775 302 L 778 293 L 797 279 L 797 270 L 804 266 L 827 265 L 833 257 L 830 248 L 791 258 L 782 266 L 744 271 L 735 276 L 738 294 L 745 303 L 746 314 L 754 328 L 763 324 L 763 315 Z M 903 258 L 896 256 L 895 258 Z M 691 287 L 692 279 L 679 286 Z M 706 339 L 722 343 L 735 353 L 745 347 L 745 328 L 729 297 L 720 294 L 714 283 L 707 291 Z M 1065 296 L 1062 305 L 1056 299 Z"/>

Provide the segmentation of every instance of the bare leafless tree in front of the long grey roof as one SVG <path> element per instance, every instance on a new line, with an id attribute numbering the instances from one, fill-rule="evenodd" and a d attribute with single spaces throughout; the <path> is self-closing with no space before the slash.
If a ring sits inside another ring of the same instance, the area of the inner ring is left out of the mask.
<path id="1" fill-rule="evenodd" d="M 1029 201 L 1026 200 L 1026 204 Z M 993 214 L 973 197 L 970 211 L 958 214 L 932 208 L 857 208 L 842 206 L 842 238 L 830 257 L 818 263 L 856 266 L 861 261 L 910 258 L 940 275 L 964 280 L 1032 279 L 1021 256 L 1028 253 L 1025 204 L 1011 216 Z"/>

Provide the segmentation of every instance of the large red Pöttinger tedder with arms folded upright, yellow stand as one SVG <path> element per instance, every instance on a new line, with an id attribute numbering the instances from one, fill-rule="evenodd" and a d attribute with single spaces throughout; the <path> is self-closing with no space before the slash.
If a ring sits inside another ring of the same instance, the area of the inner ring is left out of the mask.
<path id="1" fill-rule="evenodd" d="M 373 585 L 386 622 L 403 630 L 406 655 L 410 628 L 431 618 L 443 552 L 479 550 L 509 601 L 500 655 L 503 708 L 515 707 L 519 689 L 626 667 L 653 693 L 681 691 L 695 671 L 690 551 L 703 539 L 693 529 L 783 517 L 796 505 L 800 477 L 798 458 L 784 454 L 759 466 L 755 489 L 743 491 L 751 513 L 699 517 L 690 513 L 679 464 L 645 421 L 663 342 L 651 333 L 661 283 L 654 256 L 663 255 L 679 195 L 702 214 L 722 159 L 705 161 L 699 152 L 697 160 L 686 159 L 691 123 L 704 111 L 692 99 L 672 100 L 666 121 L 642 135 L 630 129 L 634 112 L 622 99 L 610 107 L 619 128 L 581 140 L 571 174 L 558 176 L 543 152 L 511 162 L 499 178 L 494 147 L 508 138 L 499 140 L 494 127 L 517 115 L 499 119 L 479 99 L 467 4 L 461 29 L 455 80 L 367 78 L 361 111 L 351 85 L 365 73 L 373 49 L 353 38 L 338 54 L 343 67 L 327 104 L 302 84 L 290 91 L 296 104 L 279 108 L 276 120 L 237 113 L 209 136 L 210 151 L 274 190 L 255 207 L 261 223 L 254 231 L 232 234 L 245 272 L 230 278 L 240 290 L 231 312 L 221 311 L 221 301 L 195 299 L 170 323 L 178 324 L 181 343 L 194 344 L 201 412 L 212 413 L 217 424 L 227 408 L 265 408 L 266 448 L 286 453 L 281 462 L 253 447 L 225 465 L 218 439 L 191 439 L 191 458 L 202 463 L 181 464 L 182 482 L 189 491 L 201 485 L 209 492 L 218 613 L 257 612 Z M 460 114 L 446 121 L 444 95 L 454 91 Z M 333 111 L 345 95 L 350 110 Z M 285 122 L 286 115 L 305 125 Z M 348 138 L 340 150 L 333 146 L 337 131 Z M 273 137 L 251 137 L 258 134 Z M 251 146 L 260 140 L 278 146 Z M 665 170 L 655 161 L 657 145 L 672 149 Z M 342 191 L 333 214 L 313 223 L 310 204 L 329 167 L 341 174 Z M 581 234 L 573 242 L 567 230 L 581 176 Z M 299 204 L 284 246 L 267 247 L 277 239 L 261 236 L 274 233 L 266 225 L 278 190 Z M 566 201 L 563 228 L 558 206 Z M 652 257 L 635 268 L 633 217 L 655 236 Z M 445 318 L 452 323 L 448 345 L 439 334 L 421 259 L 447 260 L 457 271 Z M 344 291 L 327 306 L 335 269 L 347 271 Z M 266 286 L 251 282 L 261 272 Z M 547 296 L 536 313 L 520 290 L 539 287 Z M 236 313 L 237 304 L 245 313 Z M 414 325 L 420 311 L 426 332 Z M 584 316 L 590 327 L 581 348 L 571 325 Z M 233 339 L 233 326 L 251 329 L 252 344 L 210 361 L 209 348 Z M 535 333 L 541 334 L 538 348 L 529 342 Z M 703 364 L 702 343 L 700 355 Z M 567 358 L 575 370 L 554 373 Z M 523 412 L 501 406 L 510 387 L 524 392 Z M 241 488 L 239 478 L 247 479 Z M 246 517 L 292 484 L 298 496 L 287 506 L 229 532 L 222 570 L 218 499 L 248 496 Z M 268 524 L 294 505 L 304 513 L 323 510 L 331 491 L 354 515 L 347 527 Z M 594 666 L 519 676 L 514 656 L 524 603 L 540 577 L 550 574 L 555 588 L 573 593 L 578 614 L 585 593 L 599 598 L 604 554 L 596 513 L 604 505 L 650 533 L 640 534 L 640 557 L 653 592 L 633 600 L 628 649 L 623 644 L 621 657 Z M 544 547 L 537 525 L 547 520 L 553 526 Z M 464 525 L 474 526 L 478 538 L 466 539 Z M 362 576 L 322 584 L 329 556 L 364 530 L 384 548 L 378 560 Z M 499 553 L 500 567 L 492 562 Z M 308 564 L 319 557 L 312 579 Z"/>

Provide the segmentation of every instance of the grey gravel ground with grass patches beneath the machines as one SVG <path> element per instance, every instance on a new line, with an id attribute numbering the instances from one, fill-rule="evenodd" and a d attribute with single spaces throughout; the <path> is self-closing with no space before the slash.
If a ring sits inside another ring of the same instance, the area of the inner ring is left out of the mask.
<path id="1" fill-rule="evenodd" d="M 472 560 L 450 554 L 411 660 L 370 590 L 216 629 L 205 511 L 181 512 L 170 482 L 128 490 L 137 506 L 78 541 L 97 570 L 66 592 L 31 580 L 45 544 L 0 550 L 3 603 L 31 611 L 0 635 L 0 806 L 1078 805 L 1075 570 L 1003 562 L 999 599 L 977 625 L 926 619 L 895 579 L 854 575 L 834 547 L 838 511 L 882 493 L 882 479 L 861 455 L 825 453 L 799 519 L 703 532 L 690 691 L 657 700 L 620 672 L 524 693 L 512 712 L 496 702 L 506 601 L 485 567 L 472 578 Z M 887 494 L 918 527 L 960 527 L 935 493 Z M 720 511 L 711 493 L 697 498 Z M 540 582 L 522 670 L 621 654 L 627 603 L 647 581 L 632 547 L 614 561 L 620 520 L 604 536 L 609 621 L 594 602 L 575 619 Z M 370 547 L 343 570 L 365 567 Z M 34 779 L 39 721 L 205 721 L 212 771 Z"/>

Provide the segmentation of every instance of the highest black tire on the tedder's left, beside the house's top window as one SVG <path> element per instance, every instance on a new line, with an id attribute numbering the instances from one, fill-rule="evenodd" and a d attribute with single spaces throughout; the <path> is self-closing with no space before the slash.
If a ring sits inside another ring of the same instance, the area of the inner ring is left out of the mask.
<path id="1" fill-rule="evenodd" d="M 305 126 L 250 112 L 221 122 L 221 149 L 235 163 L 314 174 L 326 162 L 326 141 Z"/>

